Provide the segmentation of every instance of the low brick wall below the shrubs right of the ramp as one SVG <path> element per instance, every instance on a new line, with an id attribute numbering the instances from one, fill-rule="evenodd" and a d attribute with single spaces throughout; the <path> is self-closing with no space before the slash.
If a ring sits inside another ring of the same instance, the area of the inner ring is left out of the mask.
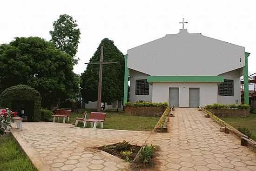
<path id="1" fill-rule="evenodd" d="M 241 117 L 244 118 L 250 114 L 249 109 L 207 109 L 217 117 Z"/>

